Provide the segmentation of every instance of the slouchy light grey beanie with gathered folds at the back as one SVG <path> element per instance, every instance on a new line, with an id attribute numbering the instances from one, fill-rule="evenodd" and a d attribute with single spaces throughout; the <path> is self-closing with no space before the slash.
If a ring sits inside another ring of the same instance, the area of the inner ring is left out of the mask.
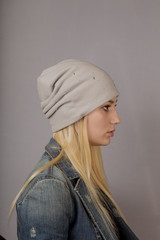
<path id="1" fill-rule="evenodd" d="M 119 95 L 111 77 L 99 67 L 74 59 L 42 72 L 38 93 L 43 113 L 57 132 Z"/>

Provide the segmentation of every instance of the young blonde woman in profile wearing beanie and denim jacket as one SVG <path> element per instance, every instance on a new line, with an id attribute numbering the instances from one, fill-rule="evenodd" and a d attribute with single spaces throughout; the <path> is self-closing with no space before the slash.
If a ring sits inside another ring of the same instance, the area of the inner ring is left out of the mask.
<path id="1" fill-rule="evenodd" d="M 110 194 L 100 149 L 120 123 L 113 80 L 69 59 L 42 72 L 38 92 L 53 137 L 15 200 L 18 239 L 137 240 Z"/>

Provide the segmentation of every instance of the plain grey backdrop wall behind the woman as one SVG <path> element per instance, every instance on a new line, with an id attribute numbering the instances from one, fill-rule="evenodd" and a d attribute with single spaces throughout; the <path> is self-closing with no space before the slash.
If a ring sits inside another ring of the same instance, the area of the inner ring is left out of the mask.
<path id="1" fill-rule="evenodd" d="M 112 194 L 143 240 L 160 239 L 160 1 L 1 0 L 0 234 L 16 239 L 10 204 L 52 133 L 36 79 L 66 58 L 104 68 L 122 120 L 103 148 Z"/>

